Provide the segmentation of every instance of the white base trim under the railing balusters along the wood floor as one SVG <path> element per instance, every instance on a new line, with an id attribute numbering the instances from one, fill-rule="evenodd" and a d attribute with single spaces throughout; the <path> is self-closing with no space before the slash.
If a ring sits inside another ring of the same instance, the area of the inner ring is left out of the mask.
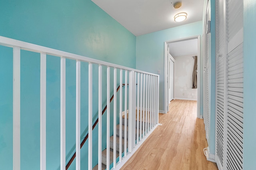
<path id="1" fill-rule="evenodd" d="M 128 152 L 127 156 L 124 157 L 122 162 L 118 162 L 116 164 L 116 168 L 112 168 L 112 170 L 120 170 L 122 168 L 122 166 L 124 166 L 124 164 L 132 157 L 132 155 L 140 148 L 140 146 L 146 141 L 146 139 L 150 136 L 150 134 L 156 129 L 156 127 L 158 126 L 158 124 L 156 124 L 156 126 L 154 126 L 151 131 L 148 131 L 147 135 L 144 136 L 144 138 L 142 138 L 141 142 L 136 145 L 134 147 L 134 149 L 132 150 L 132 152 Z"/>

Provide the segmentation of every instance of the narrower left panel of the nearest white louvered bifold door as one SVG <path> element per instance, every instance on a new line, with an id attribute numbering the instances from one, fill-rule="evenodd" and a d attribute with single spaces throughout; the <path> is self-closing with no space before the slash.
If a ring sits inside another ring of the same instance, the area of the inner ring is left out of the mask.
<path id="1" fill-rule="evenodd" d="M 216 0 L 216 163 L 223 168 L 225 110 L 225 26 L 224 0 Z"/>

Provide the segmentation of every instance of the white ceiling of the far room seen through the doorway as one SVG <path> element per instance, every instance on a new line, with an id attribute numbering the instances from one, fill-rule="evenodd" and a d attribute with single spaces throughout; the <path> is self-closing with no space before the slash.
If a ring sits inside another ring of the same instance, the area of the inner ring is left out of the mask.
<path id="1" fill-rule="evenodd" d="M 169 43 L 169 53 L 172 57 L 197 54 L 197 39 L 189 39 Z"/>

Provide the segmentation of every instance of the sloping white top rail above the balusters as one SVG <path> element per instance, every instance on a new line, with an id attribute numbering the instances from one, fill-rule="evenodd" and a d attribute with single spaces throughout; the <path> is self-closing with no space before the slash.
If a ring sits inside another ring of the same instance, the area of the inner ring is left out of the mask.
<path id="1" fill-rule="evenodd" d="M 105 61 L 91 59 L 91 58 L 84 57 L 81 55 L 76 55 L 76 54 L 72 54 L 72 53 L 68 53 L 68 52 L 64 52 L 64 51 L 60 51 L 60 50 L 56 50 L 56 49 L 51 49 L 48 47 L 44 47 L 44 46 L 40 46 L 40 45 L 36 45 L 36 44 L 32 44 L 32 43 L 27 43 L 24 41 L 19 41 L 16 39 L 11 39 L 11 38 L 7 38 L 7 37 L 3 37 L 3 36 L 0 36 L 0 45 L 6 46 L 6 47 L 20 47 L 20 49 L 23 49 L 26 51 L 33 51 L 36 53 L 46 53 L 47 55 L 53 55 L 56 57 L 65 57 L 67 59 L 80 60 L 80 61 L 90 62 L 90 63 L 94 63 L 94 64 L 101 64 L 104 66 L 120 68 L 123 70 L 130 70 L 130 71 L 136 71 L 136 72 L 140 72 L 140 73 L 144 73 L 144 74 L 151 74 L 154 76 L 159 76 L 158 74 L 152 74 L 150 72 L 144 72 L 141 70 L 136 70 L 134 68 L 129 68 L 126 66 L 120 66 L 120 65 L 108 63 Z"/>

